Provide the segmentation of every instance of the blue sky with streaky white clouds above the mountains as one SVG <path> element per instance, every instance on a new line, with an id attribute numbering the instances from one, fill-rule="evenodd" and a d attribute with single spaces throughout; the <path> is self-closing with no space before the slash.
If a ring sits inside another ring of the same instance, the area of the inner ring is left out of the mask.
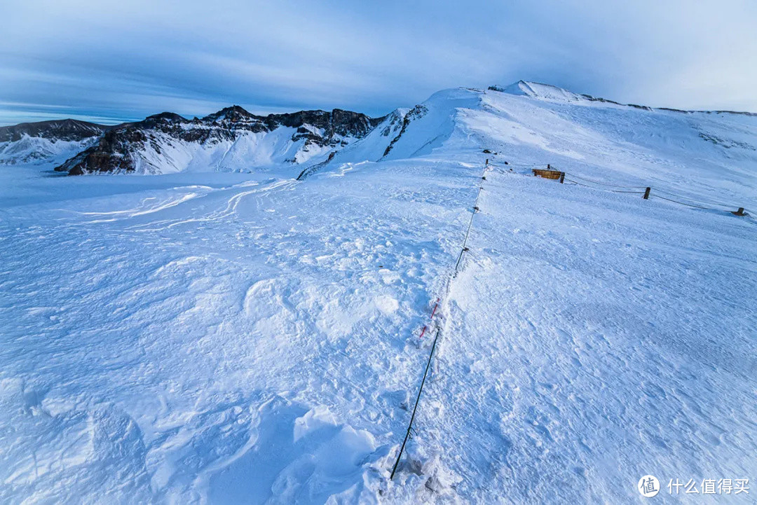
<path id="1" fill-rule="evenodd" d="M 518 79 L 622 102 L 757 112 L 757 2 L 0 5 L 0 124 L 229 104 L 374 116 Z"/>

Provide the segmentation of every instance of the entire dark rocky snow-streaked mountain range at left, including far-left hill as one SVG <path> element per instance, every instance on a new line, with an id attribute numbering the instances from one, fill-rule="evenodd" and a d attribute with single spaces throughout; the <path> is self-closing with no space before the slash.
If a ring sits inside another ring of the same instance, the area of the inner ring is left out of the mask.
<path id="1" fill-rule="evenodd" d="M 0 128 L 0 163 L 60 163 L 55 169 L 71 175 L 304 163 L 363 138 L 384 119 L 340 109 L 257 116 L 232 106 L 201 119 L 166 112 L 115 126 L 23 123 Z"/>

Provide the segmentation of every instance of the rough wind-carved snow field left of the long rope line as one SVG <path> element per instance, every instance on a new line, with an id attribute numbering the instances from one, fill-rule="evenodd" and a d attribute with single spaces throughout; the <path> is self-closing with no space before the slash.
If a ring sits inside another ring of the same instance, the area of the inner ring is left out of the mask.
<path id="1" fill-rule="evenodd" d="M 377 496 L 470 200 L 404 172 L 3 209 L 4 499 Z"/>

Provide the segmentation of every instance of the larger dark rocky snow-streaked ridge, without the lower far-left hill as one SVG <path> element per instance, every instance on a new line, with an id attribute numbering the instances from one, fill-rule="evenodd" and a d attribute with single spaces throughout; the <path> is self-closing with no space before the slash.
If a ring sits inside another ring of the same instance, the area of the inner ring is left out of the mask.
<path id="1" fill-rule="evenodd" d="M 362 138 L 382 119 L 339 109 L 256 116 L 238 106 L 191 120 L 160 113 L 109 130 L 56 170 L 71 175 L 235 172 L 304 163 Z"/>

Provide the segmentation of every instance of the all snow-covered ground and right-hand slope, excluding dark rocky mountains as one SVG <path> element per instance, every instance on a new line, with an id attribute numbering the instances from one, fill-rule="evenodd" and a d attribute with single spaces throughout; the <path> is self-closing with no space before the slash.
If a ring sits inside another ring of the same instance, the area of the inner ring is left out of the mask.
<path id="1" fill-rule="evenodd" d="M 754 219 L 528 167 L 757 209 L 757 118 L 463 89 L 423 105 L 386 156 L 409 111 L 304 181 L 3 168 L 0 501 L 638 503 L 649 473 L 660 503 L 680 499 L 668 479 L 753 487 Z"/>

